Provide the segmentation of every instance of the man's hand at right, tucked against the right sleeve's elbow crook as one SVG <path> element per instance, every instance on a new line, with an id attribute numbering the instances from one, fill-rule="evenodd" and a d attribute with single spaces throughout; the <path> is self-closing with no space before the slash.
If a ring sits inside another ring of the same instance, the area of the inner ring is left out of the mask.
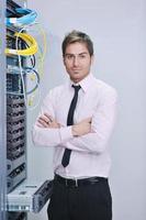
<path id="1" fill-rule="evenodd" d="M 91 118 L 85 119 L 72 125 L 72 135 L 81 136 L 91 132 Z"/>

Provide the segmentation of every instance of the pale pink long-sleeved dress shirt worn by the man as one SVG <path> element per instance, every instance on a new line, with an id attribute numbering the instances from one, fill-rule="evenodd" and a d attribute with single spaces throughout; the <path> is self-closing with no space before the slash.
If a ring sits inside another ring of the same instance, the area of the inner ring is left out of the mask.
<path id="1" fill-rule="evenodd" d="M 54 172 L 68 178 L 85 178 L 91 176 L 108 177 L 111 166 L 109 139 L 111 136 L 116 114 L 116 91 L 89 74 L 79 85 L 78 102 L 75 110 L 75 123 L 91 117 L 91 129 L 94 133 L 74 138 L 71 127 L 67 127 L 67 114 L 74 88 L 71 81 L 49 91 L 44 99 L 41 113 L 47 112 L 63 127 L 48 129 L 33 128 L 33 141 L 37 145 L 54 146 Z M 70 162 L 63 167 L 61 158 L 65 147 L 72 150 Z"/>

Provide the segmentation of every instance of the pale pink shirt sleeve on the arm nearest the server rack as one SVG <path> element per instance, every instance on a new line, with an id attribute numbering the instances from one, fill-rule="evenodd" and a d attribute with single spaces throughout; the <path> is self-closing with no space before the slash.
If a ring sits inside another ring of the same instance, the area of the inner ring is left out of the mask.
<path id="1" fill-rule="evenodd" d="M 38 117 L 48 113 L 55 118 L 54 100 L 55 96 L 50 91 L 43 101 Z M 38 127 L 37 119 L 32 131 L 33 143 L 35 145 L 58 146 L 72 138 L 71 127 L 63 127 L 59 129 L 41 128 Z"/>

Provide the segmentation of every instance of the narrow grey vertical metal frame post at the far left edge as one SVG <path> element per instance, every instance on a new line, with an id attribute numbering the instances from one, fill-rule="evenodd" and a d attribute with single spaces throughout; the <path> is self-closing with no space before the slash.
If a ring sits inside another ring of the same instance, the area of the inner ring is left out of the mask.
<path id="1" fill-rule="evenodd" d="M 5 134 L 5 1 L 0 0 L 0 219 L 5 220 L 7 134 Z"/>

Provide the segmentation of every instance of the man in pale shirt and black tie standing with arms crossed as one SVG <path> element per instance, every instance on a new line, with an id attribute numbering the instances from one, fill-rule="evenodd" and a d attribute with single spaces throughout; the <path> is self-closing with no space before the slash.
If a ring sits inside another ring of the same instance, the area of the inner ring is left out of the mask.
<path id="1" fill-rule="evenodd" d="M 49 220 L 111 220 L 108 141 L 116 91 L 90 73 L 93 44 L 78 31 L 63 42 L 69 81 L 49 91 L 33 130 L 36 144 L 54 146 Z"/>

